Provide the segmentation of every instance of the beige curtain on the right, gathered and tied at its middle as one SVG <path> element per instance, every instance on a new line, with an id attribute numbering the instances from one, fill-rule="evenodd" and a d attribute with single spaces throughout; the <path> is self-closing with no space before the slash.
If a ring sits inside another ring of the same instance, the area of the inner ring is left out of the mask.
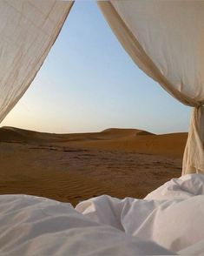
<path id="1" fill-rule="evenodd" d="M 204 1 L 98 5 L 135 64 L 181 103 L 194 106 L 182 174 L 204 172 Z"/>

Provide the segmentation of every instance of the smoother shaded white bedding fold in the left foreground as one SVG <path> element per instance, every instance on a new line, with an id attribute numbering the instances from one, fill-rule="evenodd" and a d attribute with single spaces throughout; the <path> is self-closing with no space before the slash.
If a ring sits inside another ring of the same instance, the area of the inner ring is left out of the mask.
<path id="1" fill-rule="evenodd" d="M 0 196 L 0 255 L 142 254 L 174 253 L 97 224 L 69 204 L 27 195 Z"/>

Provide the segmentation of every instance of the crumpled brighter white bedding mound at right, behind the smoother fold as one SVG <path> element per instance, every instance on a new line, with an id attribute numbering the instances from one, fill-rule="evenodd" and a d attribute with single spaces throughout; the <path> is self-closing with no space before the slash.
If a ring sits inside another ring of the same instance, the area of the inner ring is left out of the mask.
<path id="1" fill-rule="evenodd" d="M 173 252 L 186 254 L 188 248 L 191 253 L 197 248 L 197 253 L 204 254 L 203 174 L 171 179 L 145 199 L 103 195 L 80 203 L 76 210 L 97 223 L 151 239 Z"/>

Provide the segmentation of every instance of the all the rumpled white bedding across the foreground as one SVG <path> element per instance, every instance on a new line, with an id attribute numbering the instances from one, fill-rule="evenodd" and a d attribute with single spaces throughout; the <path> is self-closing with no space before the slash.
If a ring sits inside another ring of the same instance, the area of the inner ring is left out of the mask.
<path id="1" fill-rule="evenodd" d="M 0 254 L 203 255 L 203 219 L 201 174 L 172 179 L 145 199 L 103 195 L 76 209 L 50 199 L 2 195 Z"/>

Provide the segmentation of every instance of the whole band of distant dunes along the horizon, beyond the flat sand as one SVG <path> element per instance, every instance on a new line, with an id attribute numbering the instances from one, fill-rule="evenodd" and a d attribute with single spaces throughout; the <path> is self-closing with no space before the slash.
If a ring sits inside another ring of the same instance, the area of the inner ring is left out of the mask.
<path id="1" fill-rule="evenodd" d="M 0 142 L 38 145 L 51 143 L 174 158 L 182 157 L 186 140 L 186 132 L 155 135 L 138 129 L 109 128 L 101 132 L 56 134 L 27 131 L 15 127 L 0 128 Z"/>

